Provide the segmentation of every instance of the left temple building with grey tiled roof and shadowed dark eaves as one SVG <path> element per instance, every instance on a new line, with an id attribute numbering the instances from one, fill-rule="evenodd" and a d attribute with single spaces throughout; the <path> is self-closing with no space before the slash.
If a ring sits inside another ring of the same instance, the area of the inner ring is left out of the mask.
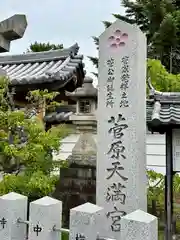
<path id="1" fill-rule="evenodd" d="M 10 80 L 10 86 L 15 92 L 16 107 L 23 108 L 27 105 L 26 95 L 35 89 L 59 92 L 56 101 L 72 103 L 65 91 L 72 92 L 80 87 L 85 76 L 83 56 L 78 55 L 78 50 L 78 44 L 74 44 L 67 49 L 47 52 L 0 55 L 1 75 L 3 73 Z M 38 112 L 43 120 L 44 109 L 39 109 Z"/>

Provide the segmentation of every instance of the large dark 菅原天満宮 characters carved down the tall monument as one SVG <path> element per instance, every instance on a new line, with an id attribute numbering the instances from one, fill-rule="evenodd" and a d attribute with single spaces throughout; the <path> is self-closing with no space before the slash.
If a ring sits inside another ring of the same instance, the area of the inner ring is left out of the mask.
<path id="1" fill-rule="evenodd" d="M 121 229 L 120 220 L 121 217 L 126 215 L 125 211 L 118 210 L 116 203 L 125 205 L 126 203 L 126 194 L 123 190 L 126 188 L 125 182 L 128 180 L 123 174 L 123 164 L 122 160 L 126 159 L 125 146 L 123 144 L 124 130 L 128 128 L 126 124 L 126 119 L 122 114 L 118 114 L 117 118 L 111 116 L 108 120 L 108 123 L 111 124 L 108 133 L 112 135 L 113 141 L 110 144 L 110 148 L 107 152 L 108 158 L 111 162 L 111 167 L 107 168 L 107 180 L 113 178 L 114 175 L 120 178 L 119 182 L 113 182 L 107 187 L 106 192 L 106 202 L 113 202 L 114 209 L 106 214 L 108 218 L 111 218 L 111 230 L 118 232 Z"/>

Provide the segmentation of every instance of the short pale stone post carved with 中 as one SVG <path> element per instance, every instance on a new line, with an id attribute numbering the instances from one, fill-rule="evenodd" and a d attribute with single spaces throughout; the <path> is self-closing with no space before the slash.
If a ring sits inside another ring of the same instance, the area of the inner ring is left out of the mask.
<path id="1" fill-rule="evenodd" d="M 48 196 L 30 203 L 29 240 L 61 239 L 62 202 Z"/>

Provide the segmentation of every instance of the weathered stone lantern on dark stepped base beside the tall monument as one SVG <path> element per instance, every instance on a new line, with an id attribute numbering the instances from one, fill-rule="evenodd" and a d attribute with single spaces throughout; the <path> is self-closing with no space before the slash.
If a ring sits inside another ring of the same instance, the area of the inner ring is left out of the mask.
<path id="1" fill-rule="evenodd" d="M 96 104 L 97 89 L 86 77 L 81 88 L 67 93 L 76 100 L 76 113 L 70 118 L 78 140 L 68 157 L 68 168 L 60 170 L 54 196 L 63 202 L 63 222 L 68 226 L 69 210 L 86 202 L 96 202 Z"/>

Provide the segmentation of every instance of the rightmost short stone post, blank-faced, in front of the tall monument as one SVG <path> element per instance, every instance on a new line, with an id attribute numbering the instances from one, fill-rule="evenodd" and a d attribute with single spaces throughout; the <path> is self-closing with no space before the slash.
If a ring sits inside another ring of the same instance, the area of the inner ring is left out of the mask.
<path id="1" fill-rule="evenodd" d="M 158 240 L 157 217 L 141 210 L 122 217 L 121 239 Z"/>

